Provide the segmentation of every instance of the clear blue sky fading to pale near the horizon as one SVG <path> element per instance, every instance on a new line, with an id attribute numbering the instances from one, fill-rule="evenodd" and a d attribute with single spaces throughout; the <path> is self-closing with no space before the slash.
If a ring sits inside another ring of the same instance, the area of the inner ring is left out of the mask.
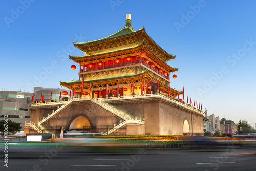
<path id="1" fill-rule="evenodd" d="M 22 0 L 1 6 L 1 90 L 32 92 L 32 86 L 61 88 L 59 81 L 77 80 L 68 55 L 83 53 L 73 42 L 113 34 L 130 13 L 134 30 L 145 26 L 176 55 L 168 62 L 179 67 L 171 87 L 184 84 L 185 96 L 208 115 L 255 127 L 256 1 Z"/>

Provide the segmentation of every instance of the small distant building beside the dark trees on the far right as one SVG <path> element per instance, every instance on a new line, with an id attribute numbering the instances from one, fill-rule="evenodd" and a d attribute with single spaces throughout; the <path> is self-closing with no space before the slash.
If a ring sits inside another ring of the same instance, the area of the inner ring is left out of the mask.
<path id="1" fill-rule="evenodd" d="M 220 124 L 221 124 L 221 134 L 223 133 L 230 134 L 230 135 L 236 134 L 238 126 L 236 125 L 236 123 L 234 123 L 234 121 L 226 120 L 225 118 L 222 118 L 220 120 Z"/>

